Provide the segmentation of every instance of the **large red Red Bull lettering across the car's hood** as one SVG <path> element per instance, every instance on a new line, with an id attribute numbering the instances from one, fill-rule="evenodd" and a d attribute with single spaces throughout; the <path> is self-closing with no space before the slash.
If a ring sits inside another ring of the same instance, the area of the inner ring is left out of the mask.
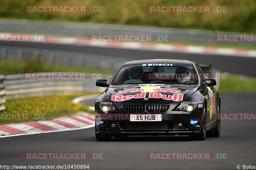
<path id="1" fill-rule="evenodd" d="M 146 98 L 146 92 L 141 92 L 140 94 L 135 95 L 112 95 L 111 100 L 114 102 L 118 101 L 126 101 L 131 99 L 141 99 Z M 173 101 L 182 101 L 183 100 L 183 94 L 173 94 L 173 95 L 167 95 L 167 94 L 161 94 L 160 92 L 149 92 L 148 98 L 155 98 L 155 99 L 164 99 L 164 100 L 173 100 Z"/>

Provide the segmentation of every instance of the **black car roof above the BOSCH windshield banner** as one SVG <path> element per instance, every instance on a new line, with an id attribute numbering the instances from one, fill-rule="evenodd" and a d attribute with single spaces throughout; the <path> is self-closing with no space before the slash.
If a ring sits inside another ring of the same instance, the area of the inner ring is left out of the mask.
<path id="1" fill-rule="evenodd" d="M 190 60 L 180 60 L 180 59 L 145 59 L 145 60 L 133 60 L 124 63 L 124 65 L 132 64 L 155 64 L 155 63 L 170 63 L 170 64 L 189 64 L 191 65 L 193 61 Z"/>

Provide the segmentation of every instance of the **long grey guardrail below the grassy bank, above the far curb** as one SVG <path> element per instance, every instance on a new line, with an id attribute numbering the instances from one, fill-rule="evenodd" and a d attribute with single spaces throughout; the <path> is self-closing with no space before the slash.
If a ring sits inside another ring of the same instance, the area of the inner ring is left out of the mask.
<path id="1" fill-rule="evenodd" d="M 36 21 L 19 19 L 0 19 L 1 32 L 40 33 L 45 35 L 86 37 L 88 35 L 168 35 L 173 42 L 198 42 L 211 44 L 248 44 L 255 42 L 216 42 L 214 35 L 241 34 L 235 32 L 217 32 L 178 28 L 162 28 L 149 26 L 124 26 L 111 24 L 92 24 L 75 22 Z M 243 33 L 245 34 L 245 33 Z M 250 35 L 250 34 L 248 34 Z"/>

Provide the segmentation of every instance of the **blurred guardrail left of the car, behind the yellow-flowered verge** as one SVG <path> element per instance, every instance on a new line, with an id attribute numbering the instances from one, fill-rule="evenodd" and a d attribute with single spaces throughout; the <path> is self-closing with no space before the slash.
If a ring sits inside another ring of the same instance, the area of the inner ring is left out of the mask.
<path id="1" fill-rule="evenodd" d="M 48 72 L 50 73 L 50 72 Z M 51 72 L 59 73 L 59 72 Z M 61 72 L 65 73 L 65 72 Z M 74 73 L 74 72 L 72 72 Z M 18 99 L 45 95 L 67 94 L 71 92 L 102 92 L 105 88 L 95 86 L 96 78 L 86 73 L 86 80 L 26 80 L 22 74 L 7 75 L 5 80 L 6 98 Z M 100 75 L 99 78 L 110 80 L 109 75 Z"/>

